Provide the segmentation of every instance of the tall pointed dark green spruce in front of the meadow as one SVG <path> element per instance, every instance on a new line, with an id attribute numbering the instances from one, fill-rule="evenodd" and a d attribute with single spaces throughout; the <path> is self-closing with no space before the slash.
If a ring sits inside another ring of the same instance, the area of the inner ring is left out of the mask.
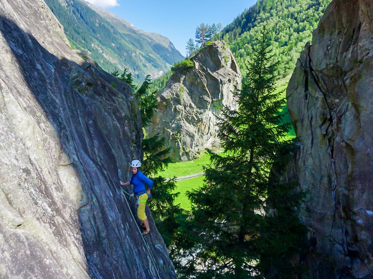
<path id="1" fill-rule="evenodd" d="M 295 182 L 270 173 L 284 164 L 291 143 L 284 140 L 289 124 L 279 113 L 285 101 L 275 93 L 267 36 L 263 29 L 242 90 L 234 92 L 238 110 L 222 109 L 224 155 L 211 152 L 204 185 L 188 192 L 194 278 L 291 278 L 296 272 L 289 260 L 304 233 L 295 212 L 300 195 Z"/>

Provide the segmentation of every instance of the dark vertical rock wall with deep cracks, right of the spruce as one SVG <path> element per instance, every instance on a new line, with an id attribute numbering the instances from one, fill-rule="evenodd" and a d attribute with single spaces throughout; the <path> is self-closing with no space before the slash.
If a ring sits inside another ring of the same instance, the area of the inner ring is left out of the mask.
<path id="1" fill-rule="evenodd" d="M 372 1 L 333 0 L 286 92 L 309 278 L 373 276 L 372 42 Z"/>

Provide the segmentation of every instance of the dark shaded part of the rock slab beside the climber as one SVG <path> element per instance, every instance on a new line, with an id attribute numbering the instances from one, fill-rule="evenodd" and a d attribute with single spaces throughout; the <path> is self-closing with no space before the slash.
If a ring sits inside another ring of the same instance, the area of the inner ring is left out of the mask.
<path id="1" fill-rule="evenodd" d="M 119 190 L 119 180 L 128 180 L 131 159 L 142 156 L 141 120 L 128 85 L 93 61 L 79 65 L 56 57 L 12 20 L 0 17 L 0 28 L 79 174 L 85 202 L 78 216 L 90 276 L 159 278 L 158 270 L 161 278 L 176 278 L 149 209 L 154 229 L 145 241 L 157 266 Z M 130 208 L 136 217 L 133 199 Z"/>

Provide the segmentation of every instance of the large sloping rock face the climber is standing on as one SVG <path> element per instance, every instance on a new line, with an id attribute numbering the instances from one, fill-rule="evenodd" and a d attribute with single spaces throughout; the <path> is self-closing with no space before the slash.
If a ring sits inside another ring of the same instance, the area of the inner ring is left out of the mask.
<path id="1" fill-rule="evenodd" d="M 132 90 L 66 43 L 43 0 L 0 1 L 0 278 L 175 278 L 118 187 L 142 155 Z"/>

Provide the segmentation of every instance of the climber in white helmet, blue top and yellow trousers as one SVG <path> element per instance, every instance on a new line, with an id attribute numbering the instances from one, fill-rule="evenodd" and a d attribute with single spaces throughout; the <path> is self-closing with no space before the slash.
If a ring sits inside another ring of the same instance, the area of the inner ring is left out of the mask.
<path id="1" fill-rule="evenodd" d="M 131 180 L 123 183 L 120 181 L 120 185 L 128 186 L 134 185 L 134 195 L 136 198 L 135 206 L 137 208 L 137 217 L 142 221 L 141 228 L 144 230 L 143 235 L 147 235 L 150 232 L 149 221 L 145 215 L 146 201 L 151 198 L 150 189 L 153 188 L 153 181 L 146 177 L 142 171 L 141 162 L 139 160 L 133 160 L 131 162 L 132 177 Z M 145 183 L 148 188 L 145 189 Z"/>

